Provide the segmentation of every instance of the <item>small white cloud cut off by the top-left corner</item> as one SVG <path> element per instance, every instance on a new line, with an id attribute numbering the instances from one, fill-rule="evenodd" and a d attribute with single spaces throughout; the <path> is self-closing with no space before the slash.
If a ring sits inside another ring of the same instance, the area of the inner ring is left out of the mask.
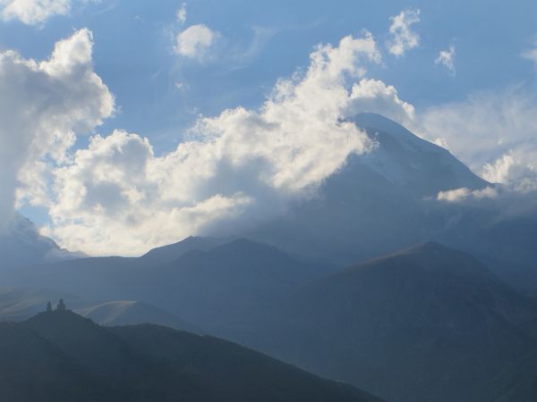
<path id="1" fill-rule="evenodd" d="M 0 0 L 0 15 L 4 21 L 19 20 L 27 25 L 47 21 L 71 10 L 71 0 Z"/>

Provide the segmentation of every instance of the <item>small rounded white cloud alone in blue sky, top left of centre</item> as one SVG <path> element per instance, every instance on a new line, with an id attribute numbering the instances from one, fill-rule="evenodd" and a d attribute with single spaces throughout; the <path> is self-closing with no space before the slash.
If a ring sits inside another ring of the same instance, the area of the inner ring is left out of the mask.
<path id="1" fill-rule="evenodd" d="M 203 60 L 209 56 L 211 46 L 220 37 L 218 32 L 203 24 L 192 25 L 175 37 L 175 53 L 184 57 Z"/>

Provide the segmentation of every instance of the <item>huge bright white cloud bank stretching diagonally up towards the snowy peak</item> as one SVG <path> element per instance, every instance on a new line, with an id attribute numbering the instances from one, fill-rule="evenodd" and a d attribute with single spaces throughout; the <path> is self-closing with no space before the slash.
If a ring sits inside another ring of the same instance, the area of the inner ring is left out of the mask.
<path id="1" fill-rule="evenodd" d="M 349 90 L 347 82 L 380 61 L 369 33 L 318 46 L 307 71 L 279 80 L 259 110 L 238 107 L 201 118 L 191 138 L 166 155 L 120 130 L 92 138 L 55 170 L 46 233 L 71 249 L 136 255 L 281 214 L 312 197 L 349 155 L 374 146 L 345 121 L 364 92 Z"/>

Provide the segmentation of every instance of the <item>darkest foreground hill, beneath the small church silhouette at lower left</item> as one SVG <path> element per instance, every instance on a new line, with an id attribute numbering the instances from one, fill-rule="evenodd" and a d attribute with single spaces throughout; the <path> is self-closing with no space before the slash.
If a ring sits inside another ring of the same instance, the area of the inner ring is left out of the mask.
<path id="1" fill-rule="evenodd" d="M 149 324 L 105 328 L 55 311 L 0 323 L 0 400 L 378 399 L 224 340 Z"/>

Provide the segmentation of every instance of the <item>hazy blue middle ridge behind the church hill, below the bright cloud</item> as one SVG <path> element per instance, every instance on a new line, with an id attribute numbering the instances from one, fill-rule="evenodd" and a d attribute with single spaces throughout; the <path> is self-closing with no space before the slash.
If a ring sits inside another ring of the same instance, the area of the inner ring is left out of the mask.
<path id="1" fill-rule="evenodd" d="M 31 267 L 5 281 L 90 300 L 139 300 L 208 331 L 241 324 L 329 272 L 331 267 L 303 262 L 276 247 L 236 239 L 209 251 L 189 251 L 169 264 L 148 264 L 147 256 L 88 258 Z"/>

